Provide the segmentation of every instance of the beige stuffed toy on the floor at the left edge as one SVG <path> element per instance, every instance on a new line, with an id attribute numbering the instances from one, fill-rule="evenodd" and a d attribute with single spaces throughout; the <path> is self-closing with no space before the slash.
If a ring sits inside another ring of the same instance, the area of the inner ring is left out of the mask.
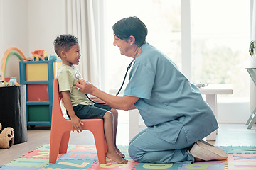
<path id="1" fill-rule="evenodd" d="M 10 148 L 14 145 L 14 129 L 7 127 L 1 130 L 2 126 L 0 123 L 0 148 Z"/>

